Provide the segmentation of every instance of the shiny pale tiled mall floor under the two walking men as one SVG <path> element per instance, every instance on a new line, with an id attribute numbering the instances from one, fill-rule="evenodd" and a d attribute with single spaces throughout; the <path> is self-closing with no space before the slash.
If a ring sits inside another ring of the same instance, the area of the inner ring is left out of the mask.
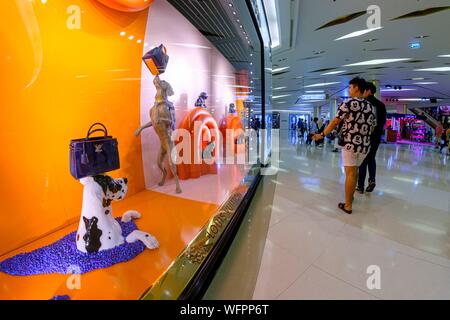
<path id="1" fill-rule="evenodd" d="M 450 299 L 450 157 L 382 145 L 375 192 L 345 215 L 340 154 L 287 135 L 280 149 L 254 299 Z"/>

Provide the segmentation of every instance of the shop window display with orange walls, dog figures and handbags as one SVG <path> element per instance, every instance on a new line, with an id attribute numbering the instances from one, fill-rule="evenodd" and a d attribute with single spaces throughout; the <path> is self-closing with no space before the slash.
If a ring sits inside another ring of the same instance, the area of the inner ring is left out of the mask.
<path id="1" fill-rule="evenodd" d="M 0 8 L 0 299 L 189 297 L 258 181 L 251 7 Z"/>

